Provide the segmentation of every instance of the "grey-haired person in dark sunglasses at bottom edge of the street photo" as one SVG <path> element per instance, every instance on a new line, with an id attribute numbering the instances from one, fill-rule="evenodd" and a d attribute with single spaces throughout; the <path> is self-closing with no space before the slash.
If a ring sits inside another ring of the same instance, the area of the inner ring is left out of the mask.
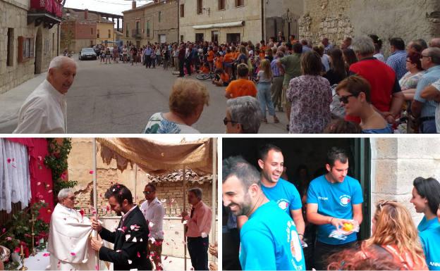
<path id="1" fill-rule="evenodd" d="M 258 134 L 261 109 L 252 96 L 241 96 L 226 101 L 226 134 Z"/>

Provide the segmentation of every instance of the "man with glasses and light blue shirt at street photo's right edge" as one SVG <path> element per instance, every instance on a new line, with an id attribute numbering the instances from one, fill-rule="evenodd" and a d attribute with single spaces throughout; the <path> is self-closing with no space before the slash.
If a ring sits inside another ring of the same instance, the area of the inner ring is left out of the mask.
<path id="1" fill-rule="evenodd" d="M 420 132 L 423 134 L 435 134 L 436 130 L 436 107 L 439 103 L 434 100 L 422 98 L 422 91 L 429 84 L 440 79 L 440 48 L 429 47 L 422 51 L 422 68 L 426 73 L 417 84 L 414 101 L 411 103 L 412 117 L 420 118 Z"/>

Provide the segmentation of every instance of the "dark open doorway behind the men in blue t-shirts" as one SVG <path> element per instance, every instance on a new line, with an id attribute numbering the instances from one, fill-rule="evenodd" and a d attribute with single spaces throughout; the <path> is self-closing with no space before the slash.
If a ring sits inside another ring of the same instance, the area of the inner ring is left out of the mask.
<path id="1" fill-rule="evenodd" d="M 229 156 L 243 156 L 245 160 L 257 165 L 257 151 L 259 146 L 271 143 L 283 150 L 284 165 L 287 167 L 288 181 L 295 184 L 295 175 L 300 165 L 306 165 L 310 180 L 325 172 L 326 152 L 333 146 L 346 149 L 349 165 L 348 175 L 359 180 L 364 196 L 362 206 L 363 221 L 358 240 L 367 239 L 371 229 L 371 182 L 370 143 L 367 138 L 224 138 L 223 158 Z"/>

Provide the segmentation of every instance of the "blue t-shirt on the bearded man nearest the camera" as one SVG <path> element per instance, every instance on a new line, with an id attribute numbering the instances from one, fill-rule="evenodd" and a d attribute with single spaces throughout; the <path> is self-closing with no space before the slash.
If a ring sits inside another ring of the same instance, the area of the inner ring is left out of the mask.
<path id="1" fill-rule="evenodd" d="M 305 270 L 295 223 L 269 201 L 257 208 L 240 231 L 243 270 Z"/>

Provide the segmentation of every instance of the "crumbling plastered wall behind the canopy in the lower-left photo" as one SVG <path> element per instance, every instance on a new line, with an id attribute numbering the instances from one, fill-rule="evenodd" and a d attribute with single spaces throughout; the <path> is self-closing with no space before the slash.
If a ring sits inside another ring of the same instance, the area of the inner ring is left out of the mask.
<path id="1" fill-rule="evenodd" d="M 99 142 L 97 142 L 99 149 Z M 72 139 L 72 149 L 68 156 L 68 179 L 78 181 L 78 185 L 73 188 L 75 191 L 78 206 L 85 210 L 87 215 L 92 213 L 89 208 L 91 205 L 90 195 L 92 194 L 93 175 L 90 174 L 93 165 L 92 157 L 93 143 L 92 139 L 74 138 Z M 133 194 L 136 203 L 140 203 L 144 198 L 142 191 L 144 191 L 145 184 L 150 182 L 152 177 L 147 175 L 142 170 L 128 165 L 128 168 L 121 172 L 116 167 L 116 162 L 113 160 L 109 165 L 103 163 L 102 158 L 97 153 L 97 206 L 100 219 L 104 225 L 113 230 L 118 225 L 119 218 L 114 213 L 106 209 L 108 206 L 107 200 L 104 198 L 106 189 L 111 184 L 116 182 L 126 185 Z M 157 198 L 161 200 L 164 205 L 166 215 L 164 218 L 164 256 L 183 257 L 184 243 L 183 243 L 183 225 L 181 218 L 178 215 L 183 210 L 183 201 L 186 201 L 186 210 L 191 207 L 188 204 L 187 197 L 183 194 L 182 182 L 159 182 L 155 184 L 157 187 Z M 187 182 L 186 190 L 191 187 L 200 187 L 203 191 L 202 200 L 208 206 L 212 206 L 212 180 L 210 182 L 203 182 L 202 184 Z M 218 205 L 217 197 L 215 204 Z M 218 211 L 216 211 L 218 213 Z M 218 220 L 217 220 L 218 221 Z M 214 229 L 218 232 L 218 227 Z M 218 236 L 218 234 L 216 234 Z M 210 236 L 210 242 L 214 243 L 213 237 Z"/>

